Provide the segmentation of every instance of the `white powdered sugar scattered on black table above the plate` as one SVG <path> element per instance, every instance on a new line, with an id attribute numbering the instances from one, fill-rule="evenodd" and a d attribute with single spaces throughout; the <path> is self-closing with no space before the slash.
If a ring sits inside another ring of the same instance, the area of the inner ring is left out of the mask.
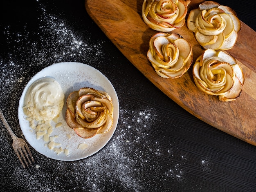
<path id="1" fill-rule="evenodd" d="M 65 20 L 49 14 L 43 4 L 39 4 L 39 9 L 42 14 L 34 32 L 26 26 L 16 32 L 10 26 L 4 27 L 3 38 L 7 40 L 9 53 L 0 56 L 3 89 L 13 83 L 24 85 L 23 80 L 27 82 L 40 69 L 54 63 L 70 60 L 97 63 L 104 57 L 103 42 L 95 43 L 86 34 L 75 33 Z"/>

